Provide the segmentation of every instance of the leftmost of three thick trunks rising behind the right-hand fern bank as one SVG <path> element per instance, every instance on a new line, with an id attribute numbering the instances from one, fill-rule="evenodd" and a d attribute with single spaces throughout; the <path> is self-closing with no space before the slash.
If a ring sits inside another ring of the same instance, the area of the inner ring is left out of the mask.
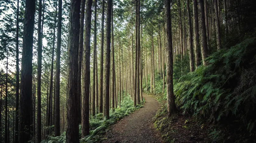
<path id="1" fill-rule="evenodd" d="M 188 26 L 189 26 L 189 63 L 190 63 L 190 71 L 194 71 L 194 55 L 193 55 L 194 51 L 193 51 L 192 26 L 191 26 L 189 0 L 187 0 L 187 17 L 188 17 Z"/>

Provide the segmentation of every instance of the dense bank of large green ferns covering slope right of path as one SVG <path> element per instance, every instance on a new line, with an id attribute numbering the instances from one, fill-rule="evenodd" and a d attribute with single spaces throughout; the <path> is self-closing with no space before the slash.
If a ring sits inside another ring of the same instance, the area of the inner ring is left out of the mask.
<path id="1" fill-rule="evenodd" d="M 207 66 L 181 76 L 174 94 L 183 113 L 197 121 L 236 125 L 244 133 L 255 133 L 255 53 L 256 38 L 247 38 L 210 55 Z"/>

